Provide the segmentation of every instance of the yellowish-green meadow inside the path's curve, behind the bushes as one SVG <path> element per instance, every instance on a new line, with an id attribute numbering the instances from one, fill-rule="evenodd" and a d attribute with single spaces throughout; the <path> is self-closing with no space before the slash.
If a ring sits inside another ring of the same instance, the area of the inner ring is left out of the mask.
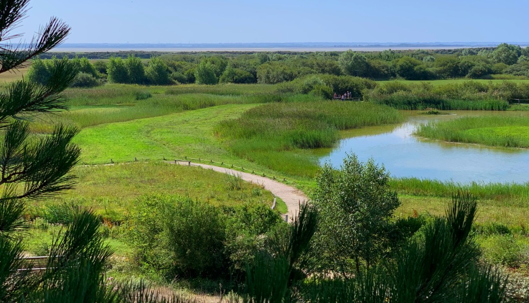
<path id="1" fill-rule="evenodd" d="M 111 221 L 121 221 L 131 201 L 148 194 L 188 196 L 213 205 L 265 203 L 272 205 L 273 196 L 260 185 L 239 181 L 240 189 L 232 186 L 233 176 L 198 167 L 161 162 L 136 162 L 114 166 L 77 167 L 76 189 L 67 191 L 58 201 L 73 201 L 92 208 Z M 30 203 L 31 217 L 38 215 L 47 203 Z M 286 210 L 278 199 L 279 212 Z M 285 211 L 286 213 L 286 211 Z"/>

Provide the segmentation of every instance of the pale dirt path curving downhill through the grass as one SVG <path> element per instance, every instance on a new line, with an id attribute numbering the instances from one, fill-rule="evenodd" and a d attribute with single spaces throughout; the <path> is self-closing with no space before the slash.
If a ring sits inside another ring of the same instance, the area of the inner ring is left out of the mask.
<path id="1" fill-rule="evenodd" d="M 175 163 L 175 162 L 170 162 L 170 163 Z M 176 162 L 176 163 L 180 165 L 185 165 L 185 166 L 189 165 L 188 164 L 189 162 L 187 161 L 181 161 L 181 162 Z M 212 169 L 214 171 L 227 173 L 230 175 L 241 176 L 241 178 L 244 181 L 253 182 L 253 183 L 262 185 L 263 187 L 265 187 L 266 190 L 269 190 L 272 193 L 272 195 L 277 196 L 281 198 L 281 200 L 285 201 L 285 204 L 287 205 L 287 208 L 288 208 L 289 218 L 293 218 L 299 212 L 299 203 L 303 203 L 304 201 L 308 200 L 307 196 L 305 196 L 305 194 L 299 189 L 288 186 L 286 184 L 283 184 L 275 180 L 270 180 L 266 177 L 252 175 L 251 173 L 248 173 L 248 172 L 241 172 L 238 170 L 233 170 L 229 168 L 223 168 L 223 167 L 218 167 L 218 166 L 213 166 L 213 165 L 208 165 L 208 164 L 190 162 L 190 165 L 199 166 L 205 169 Z"/>

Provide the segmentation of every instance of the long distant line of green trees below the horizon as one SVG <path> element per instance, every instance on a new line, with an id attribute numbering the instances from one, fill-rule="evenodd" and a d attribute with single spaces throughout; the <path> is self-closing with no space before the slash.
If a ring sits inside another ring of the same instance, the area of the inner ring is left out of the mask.
<path id="1" fill-rule="evenodd" d="M 309 75 L 357 76 L 372 80 L 489 79 L 498 74 L 503 75 L 500 76 L 503 79 L 529 78 L 529 48 L 505 43 L 497 48 L 460 50 L 199 52 L 165 53 L 157 57 L 152 57 L 153 52 L 95 54 L 100 58 L 112 56 L 95 63 L 88 61 L 90 53 L 87 57 L 71 60 L 77 65 L 83 62 L 87 69 L 80 68 L 80 71 L 100 82 L 148 85 L 278 84 Z M 53 60 L 57 59 L 35 61 L 30 76 L 42 81 L 45 77 L 35 75 L 45 75 L 45 68 L 42 68 Z"/>

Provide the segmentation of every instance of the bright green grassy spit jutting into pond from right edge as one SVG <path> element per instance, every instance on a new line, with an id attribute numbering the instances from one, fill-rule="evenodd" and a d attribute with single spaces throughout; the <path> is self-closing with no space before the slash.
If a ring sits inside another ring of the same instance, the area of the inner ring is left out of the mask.
<path id="1" fill-rule="evenodd" d="M 431 139 L 489 146 L 529 148 L 529 118 L 479 116 L 419 126 L 416 135 Z"/>

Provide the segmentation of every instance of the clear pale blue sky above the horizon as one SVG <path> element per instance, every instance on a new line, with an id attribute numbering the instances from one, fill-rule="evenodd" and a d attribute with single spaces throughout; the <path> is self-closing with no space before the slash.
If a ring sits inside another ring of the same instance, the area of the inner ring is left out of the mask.
<path id="1" fill-rule="evenodd" d="M 67 43 L 529 41 L 527 0 L 32 0 Z"/>

